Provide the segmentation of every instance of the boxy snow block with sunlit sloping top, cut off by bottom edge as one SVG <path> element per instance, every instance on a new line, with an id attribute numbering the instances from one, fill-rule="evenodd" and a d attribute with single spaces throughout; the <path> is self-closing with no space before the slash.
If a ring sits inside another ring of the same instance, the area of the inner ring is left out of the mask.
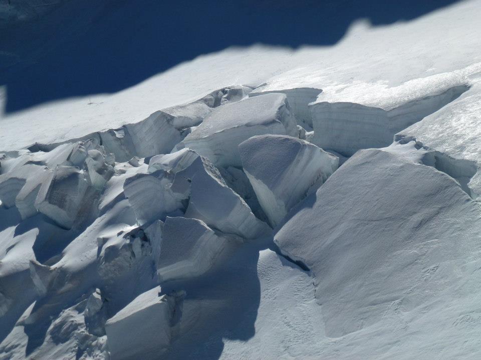
<path id="1" fill-rule="evenodd" d="M 113 359 L 154 359 L 170 343 L 175 300 L 160 295 L 160 286 L 137 296 L 105 324 Z"/>

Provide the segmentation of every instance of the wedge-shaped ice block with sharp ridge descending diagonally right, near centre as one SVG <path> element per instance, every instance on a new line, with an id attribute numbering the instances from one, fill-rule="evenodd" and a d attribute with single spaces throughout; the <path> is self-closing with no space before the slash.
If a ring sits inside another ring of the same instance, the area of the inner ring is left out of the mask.
<path id="1" fill-rule="evenodd" d="M 162 188 L 169 194 L 169 198 L 179 201 L 177 203 L 188 202 L 185 217 L 200 219 L 212 228 L 244 238 L 256 238 L 270 233 L 270 227 L 259 220 L 242 197 L 227 186 L 217 168 L 195 151 L 183 148 L 171 154 L 154 156 L 149 163 L 149 171 L 152 170 L 156 171 L 150 176 L 162 171 L 167 174 L 166 176 L 174 174 L 172 183 L 165 181 Z M 149 175 L 137 175 L 133 179 L 144 176 Z M 128 180 L 126 183 L 134 180 Z M 160 206 L 158 201 L 152 201 L 155 196 L 160 196 L 156 195 L 159 192 L 160 190 L 154 190 L 152 195 L 146 194 L 145 191 L 139 193 L 139 197 L 144 196 L 143 201 L 148 203 L 142 208 L 148 208 L 151 206 L 150 203 Z M 137 205 L 134 211 L 136 207 Z M 180 209 L 182 206 L 178 205 L 177 208 Z M 155 211 L 147 212 L 146 216 L 152 215 Z"/>

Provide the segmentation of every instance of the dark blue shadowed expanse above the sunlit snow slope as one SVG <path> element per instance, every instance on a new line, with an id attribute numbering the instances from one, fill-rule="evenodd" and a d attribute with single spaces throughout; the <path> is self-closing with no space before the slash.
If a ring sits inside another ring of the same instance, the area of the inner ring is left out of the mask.
<path id="1" fill-rule="evenodd" d="M 231 45 L 331 45 L 356 19 L 389 24 L 453 2 L 68 0 L 35 21 L 0 26 L 0 52 L 14 54 L 0 57 L 0 85 L 13 112 L 119 91 Z"/>

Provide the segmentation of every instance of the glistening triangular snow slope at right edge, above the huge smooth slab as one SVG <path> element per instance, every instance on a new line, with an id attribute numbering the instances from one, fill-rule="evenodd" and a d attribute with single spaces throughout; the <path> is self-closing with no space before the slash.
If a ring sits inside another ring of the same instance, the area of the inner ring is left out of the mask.
<path id="1" fill-rule="evenodd" d="M 414 139 L 444 155 L 444 167 L 466 183 L 473 198 L 481 194 L 481 84 L 479 73 L 476 76 L 469 90 L 456 100 L 395 136 L 403 142 Z"/>

